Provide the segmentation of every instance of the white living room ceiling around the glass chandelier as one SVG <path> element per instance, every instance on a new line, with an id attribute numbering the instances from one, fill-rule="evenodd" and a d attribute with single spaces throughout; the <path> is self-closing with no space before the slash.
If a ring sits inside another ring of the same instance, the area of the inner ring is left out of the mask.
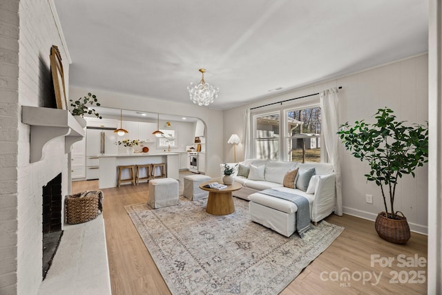
<path id="1" fill-rule="evenodd" d="M 425 0 L 57 0 L 70 85 L 227 109 L 427 52 Z M 102 102 L 106 104 L 106 102 Z"/>

